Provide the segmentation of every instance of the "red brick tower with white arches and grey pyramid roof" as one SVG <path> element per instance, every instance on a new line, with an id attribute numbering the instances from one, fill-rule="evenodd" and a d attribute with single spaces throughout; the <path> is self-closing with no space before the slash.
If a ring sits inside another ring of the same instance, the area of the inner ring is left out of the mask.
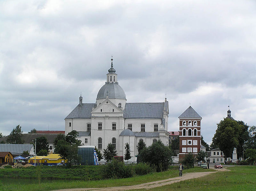
<path id="1" fill-rule="evenodd" d="M 180 117 L 180 153 L 179 160 L 186 154 L 194 156 L 201 150 L 201 116 L 189 106 Z"/>

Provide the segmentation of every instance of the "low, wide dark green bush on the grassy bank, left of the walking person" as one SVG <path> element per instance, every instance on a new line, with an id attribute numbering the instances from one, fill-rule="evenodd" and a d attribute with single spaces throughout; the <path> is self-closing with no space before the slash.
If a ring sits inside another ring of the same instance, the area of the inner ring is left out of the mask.
<path id="1" fill-rule="evenodd" d="M 102 166 L 101 174 L 103 179 L 129 178 L 134 175 L 134 169 L 131 165 L 125 166 L 123 162 L 113 160 Z"/>

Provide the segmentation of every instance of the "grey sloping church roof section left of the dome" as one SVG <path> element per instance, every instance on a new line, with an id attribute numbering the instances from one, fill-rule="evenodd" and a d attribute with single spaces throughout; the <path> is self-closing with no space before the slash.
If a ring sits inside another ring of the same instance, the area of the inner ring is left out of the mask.
<path id="1" fill-rule="evenodd" d="M 95 103 L 83 103 L 82 105 L 78 104 L 66 118 L 91 118 L 91 111 L 94 106 Z"/>

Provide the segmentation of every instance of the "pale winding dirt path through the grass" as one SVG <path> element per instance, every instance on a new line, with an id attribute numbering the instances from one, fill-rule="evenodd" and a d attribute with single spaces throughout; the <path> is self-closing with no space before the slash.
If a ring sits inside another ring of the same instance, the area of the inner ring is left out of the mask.
<path id="1" fill-rule="evenodd" d="M 182 177 L 175 177 L 165 180 L 158 180 L 154 182 L 147 182 L 143 184 L 131 185 L 131 186 L 120 186 L 120 187 L 105 187 L 105 188 L 70 188 L 70 189 L 62 189 L 62 190 L 55 190 L 55 191 L 85 191 L 85 190 L 100 190 L 100 191 L 120 191 L 120 190 L 133 190 L 133 189 L 142 189 L 142 188 L 154 188 L 160 187 L 168 184 L 172 184 L 175 182 L 180 182 L 182 180 L 189 180 L 194 178 L 199 178 L 202 176 L 206 176 L 208 174 L 212 174 L 219 171 L 229 171 L 228 169 L 216 169 L 214 172 L 191 172 L 191 173 L 184 173 Z"/>

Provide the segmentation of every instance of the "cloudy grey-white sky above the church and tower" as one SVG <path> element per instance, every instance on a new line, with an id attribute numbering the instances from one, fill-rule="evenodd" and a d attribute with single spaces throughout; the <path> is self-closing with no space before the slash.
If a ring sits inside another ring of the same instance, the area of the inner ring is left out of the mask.
<path id="1" fill-rule="evenodd" d="M 64 130 L 95 103 L 113 54 L 127 102 L 169 101 L 169 131 L 189 104 L 211 143 L 227 116 L 256 125 L 255 1 L 0 2 L 0 132 Z"/>

